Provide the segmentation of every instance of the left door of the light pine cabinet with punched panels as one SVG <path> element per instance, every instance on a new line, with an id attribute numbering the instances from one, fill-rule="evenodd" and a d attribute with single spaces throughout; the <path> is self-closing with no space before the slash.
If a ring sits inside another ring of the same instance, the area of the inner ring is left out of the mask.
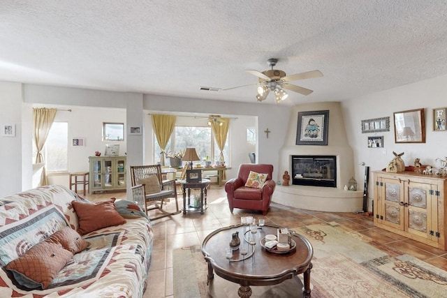
<path id="1" fill-rule="evenodd" d="M 382 178 L 381 181 L 381 209 L 383 225 L 404 230 L 404 187 L 396 179 Z"/>

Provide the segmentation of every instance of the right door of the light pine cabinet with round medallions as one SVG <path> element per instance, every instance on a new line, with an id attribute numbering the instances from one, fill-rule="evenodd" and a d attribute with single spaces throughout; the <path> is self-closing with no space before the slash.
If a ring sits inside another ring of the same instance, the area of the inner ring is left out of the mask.
<path id="1" fill-rule="evenodd" d="M 405 230 L 433 241 L 437 241 L 437 237 L 431 235 L 430 231 L 438 230 L 436 188 L 432 184 L 405 182 L 405 201 L 408 203 L 405 209 Z"/>

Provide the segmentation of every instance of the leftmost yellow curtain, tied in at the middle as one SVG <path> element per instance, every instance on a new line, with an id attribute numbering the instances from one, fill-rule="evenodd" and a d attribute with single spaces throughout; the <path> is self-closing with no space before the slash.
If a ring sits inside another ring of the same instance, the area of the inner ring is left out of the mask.
<path id="1" fill-rule="evenodd" d="M 33 109 L 33 121 L 34 131 L 33 140 L 36 145 L 37 155 L 36 163 L 44 163 L 42 149 L 50 133 L 50 128 L 53 124 L 54 117 L 56 117 L 57 109 L 34 108 Z M 43 166 L 41 182 L 39 186 L 47 185 L 47 172 L 45 171 L 45 165 Z"/>

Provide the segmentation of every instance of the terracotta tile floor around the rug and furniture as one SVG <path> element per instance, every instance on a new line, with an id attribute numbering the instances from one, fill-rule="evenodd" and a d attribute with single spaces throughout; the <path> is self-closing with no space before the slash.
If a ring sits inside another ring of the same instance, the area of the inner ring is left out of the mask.
<path id="1" fill-rule="evenodd" d="M 180 192 L 178 192 L 180 194 Z M 101 193 L 86 195 L 89 200 L 102 198 L 126 198 L 126 193 Z M 179 207 L 182 195 L 178 195 Z M 233 214 L 228 209 L 226 193 L 222 187 L 212 185 L 207 196 L 208 209 L 205 214 L 187 212 L 185 215 L 161 218 L 152 221 L 154 228 L 154 248 L 152 264 L 149 269 L 149 285 L 144 298 L 174 297 L 173 281 L 173 250 L 183 246 L 201 244 L 210 232 L 226 225 L 240 223 L 240 216 L 251 215 L 256 219 L 265 218 L 266 223 L 282 225 L 286 228 L 296 228 L 302 225 L 335 221 L 348 230 L 354 230 L 372 238 L 376 248 L 390 255 L 408 254 L 431 265 L 447 271 L 447 252 L 432 248 L 398 234 L 375 228 L 372 216 L 354 213 L 335 213 L 309 211 L 285 207 L 272 203 L 266 216 L 261 212 L 234 209 Z M 168 208 L 175 208 L 170 202 Z M 154 212 L 154 211 L 151 211 Z"/>

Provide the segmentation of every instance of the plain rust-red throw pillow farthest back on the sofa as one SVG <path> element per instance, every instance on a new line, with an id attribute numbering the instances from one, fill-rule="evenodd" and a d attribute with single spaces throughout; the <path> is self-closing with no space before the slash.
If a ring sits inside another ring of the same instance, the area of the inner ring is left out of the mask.
<path id="1" fill-rule="evenodd" d="M 78 215 L 78 232 L 83 235 L 94 230 L 126 223 L 124 217 L 117 212 L 114 202 L 115 198 L 96 204 L 72 201 L 71 204 Z"/>

